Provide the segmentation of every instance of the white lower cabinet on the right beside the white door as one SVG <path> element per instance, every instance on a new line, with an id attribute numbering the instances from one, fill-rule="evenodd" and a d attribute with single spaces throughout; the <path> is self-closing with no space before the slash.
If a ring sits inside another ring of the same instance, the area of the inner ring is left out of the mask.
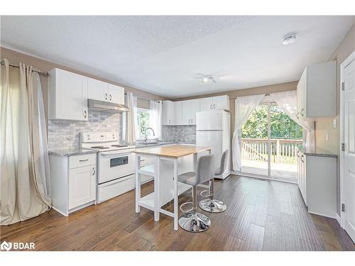
<path id="1" fill-rule="evenodd" d="M 297 184 L 308 212 L 337 216 L 337 157 L 305 155 L 296 150 Z"/>

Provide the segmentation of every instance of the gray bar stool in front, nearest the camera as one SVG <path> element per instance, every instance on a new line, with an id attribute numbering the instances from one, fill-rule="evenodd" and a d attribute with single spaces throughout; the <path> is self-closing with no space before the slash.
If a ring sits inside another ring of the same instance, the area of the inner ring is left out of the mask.
<path id="1" fill-rule="evenodd" d="M 190 184 L 192 187 L 192 202 L 181 204 L 180 210 L 184 213 L 179 218 L 179 226 L 186 231 L 198 233 L 211 226 L 211 221 L 204 214 L 197 212 L 197 184 L 202 184 L 214 177 L 214 155 L 204 155 L 197 161 L 196 172 L 185 172 L 178 175 L 179 182 Z M 192 208 L 184 211 L 182 206 L 192 204 Z"/>

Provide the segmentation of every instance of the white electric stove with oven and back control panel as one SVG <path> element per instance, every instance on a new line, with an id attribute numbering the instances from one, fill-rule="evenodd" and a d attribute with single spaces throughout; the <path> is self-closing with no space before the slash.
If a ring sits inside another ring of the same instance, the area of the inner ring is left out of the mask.
<path id="1" fill-rule="evenodd" d="M 119 143 L 116 132 L 82 132 L 81 148 L 97 150 L 97 203 L 134 189 L 133 145 Z"/>

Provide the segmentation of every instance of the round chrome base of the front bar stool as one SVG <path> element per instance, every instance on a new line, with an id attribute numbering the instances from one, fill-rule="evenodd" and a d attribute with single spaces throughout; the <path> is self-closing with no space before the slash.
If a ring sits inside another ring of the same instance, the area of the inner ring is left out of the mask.
<path id="1" fill-rule="evenodd" d="M 211 226 L 211 220 L 198 212 L 187 212 L 179 218 L 179 226 L 189 232 L 199 233 Z"/>

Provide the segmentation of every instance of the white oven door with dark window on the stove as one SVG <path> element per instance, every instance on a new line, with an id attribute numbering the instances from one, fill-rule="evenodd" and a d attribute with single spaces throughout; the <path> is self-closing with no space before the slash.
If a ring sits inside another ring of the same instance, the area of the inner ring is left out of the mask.
<path id="1" fill-rule="evenodd" d="M 134 174 L 136 171 L 136 157 L 133 150 L 113 150 L 111 152 L 99 153 L 97 160 L 97 182 L 102 184 L 126 177 L 129 174 Z"/>

